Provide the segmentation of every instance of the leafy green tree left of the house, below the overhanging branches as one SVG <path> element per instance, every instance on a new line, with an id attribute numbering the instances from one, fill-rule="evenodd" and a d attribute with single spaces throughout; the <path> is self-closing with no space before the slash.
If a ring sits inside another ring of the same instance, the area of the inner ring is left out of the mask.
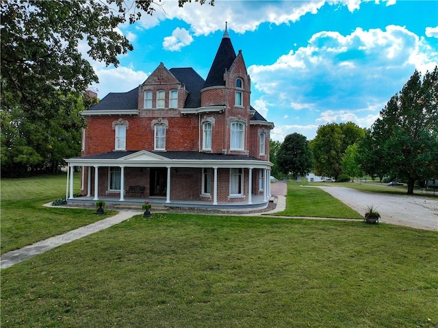
<path id="1" fill-rule="evenodd" d="M 64 158 L 80 155 L 85 121 L 78 113 L 85 108 L 83 99 L 60 96 L 56 104 L 47 105 L 57 107 L 47 120 L 35 121 L 18 107 L 1 115 L 3 177 L 56 172 Z"/>

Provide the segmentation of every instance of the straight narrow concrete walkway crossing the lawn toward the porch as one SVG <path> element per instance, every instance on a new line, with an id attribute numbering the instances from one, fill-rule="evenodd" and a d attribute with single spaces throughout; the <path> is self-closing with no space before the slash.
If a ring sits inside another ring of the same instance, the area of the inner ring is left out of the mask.
<path id="1" fill-rule="evenodd" d="M 8 253 L 1 255 L 0 268 L 1 269 L 9 268 L 14 264 L 29 259 L 30 257 L 34 257 L 41 253 L 50 251 L 51 249 L 61 246 L 62 244 L 73 242 L 73 240 L 77 240 L 79 238 L 88 236 L 90 234 L 94 234 L 97 231 L 101 231 L 103 229 L 106 229 L 107 227 L 111 227 L 112 225 L 116 225 L 140 213 L 141 213 L 140 211 L 124 210 L 110 218 L 105 218 L 103 220 L 97 221 L 90 225 L 86 225 L 84 227 L 80 227 L 75 230 L 68 231 L 65 234 L 51 237 L 49 239 L 42 240 L 40 242 L 36 242 L 35 244 L 31 244 L 27 247 L 23 247 L 23 249 L 10 251 Z"/>

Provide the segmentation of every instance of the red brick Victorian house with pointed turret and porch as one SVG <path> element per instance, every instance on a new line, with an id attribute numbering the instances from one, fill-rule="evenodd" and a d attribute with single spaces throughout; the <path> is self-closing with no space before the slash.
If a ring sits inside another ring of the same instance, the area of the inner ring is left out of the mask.
<path id="1" fill-rule="evenodd" d="M 227 29 L 207 79 L 160 63 L 137 88 L 107 94 L 81 115 L 82 155 L 66 159 L 69 203 L 268 205 L 274 124 L 250 105 L 250 77 Z M 81 197 L 73 197 L 75 166 Z"/>

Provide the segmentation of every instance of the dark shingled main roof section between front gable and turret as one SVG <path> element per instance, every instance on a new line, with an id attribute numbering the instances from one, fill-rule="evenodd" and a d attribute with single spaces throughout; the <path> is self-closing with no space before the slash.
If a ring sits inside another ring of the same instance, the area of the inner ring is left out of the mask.
<path id="1" fill-rule="evenodd" d="M 185 90 L 189 92 L 184 108 L 201 107 L 201 89 L 205 82 L 204 79 L 191 67 L 170 68 L 169 71 L 178 81 L 185 84 Z"/>

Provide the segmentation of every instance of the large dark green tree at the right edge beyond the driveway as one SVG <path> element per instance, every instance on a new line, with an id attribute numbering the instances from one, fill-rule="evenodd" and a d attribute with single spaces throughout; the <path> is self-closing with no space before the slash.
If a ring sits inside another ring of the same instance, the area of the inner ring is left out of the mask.
<path id="1" fill-rule="evenodd" d="M 417 71 L 381 110 L 370 130 L 381 142 L 376 156 L 387 173 L 408 184 L 438 175 L 438 68 L 422 79 Z"/>

